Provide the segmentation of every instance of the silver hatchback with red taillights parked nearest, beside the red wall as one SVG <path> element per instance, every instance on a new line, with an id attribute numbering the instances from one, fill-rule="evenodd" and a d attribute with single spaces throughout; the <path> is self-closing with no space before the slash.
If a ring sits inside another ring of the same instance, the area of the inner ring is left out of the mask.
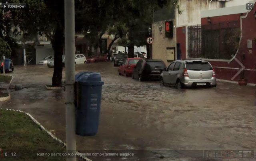
<path id="1" fill-rule="evenodd" d="M 162 72 L 160 85 L 216 87 L 216 73 L 210 62 L 204 60 L 176 60 Z"/>

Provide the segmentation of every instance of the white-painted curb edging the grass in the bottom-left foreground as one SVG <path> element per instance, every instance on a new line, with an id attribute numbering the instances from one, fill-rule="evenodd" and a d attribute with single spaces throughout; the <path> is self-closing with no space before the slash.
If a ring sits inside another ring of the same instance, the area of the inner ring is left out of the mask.
<path id="1" fill-rule="evenodd" d="M 3 109 L 3 108 L 0 108 L 0 109 Z M 50 137 L 52 137 L 54 140 L 58 141 L 58 143 L 60 143 L 61 145 L 64 145 L 64 146 L 66 147 L 66 143 L 64 143 L 63 141 L 61 141 L 60 139 L 58 139 L 57 137 L 55 137 L 50 131 L 48 131 L 47 129 L 45 129 L 44 126 L 41 125 L 38 121 L 36 121 L 36 119 L 35 119 L 32 115 L 30 115 L 29 113 L 24 112 L 24 111 L 20 111 L 20 110 L 15 110 L 15 109 L 6 109 L 6 110 L 25 113 L 26 115 L 28 115 L 28 117 L 30 117 L 30 119 L 32 119 L 32 120 L 34 121 L 34 123 L 36 123 L 37 125 L 39 125 L 40 128 L 41 128 L 43 131 L 46 131 L 46 133 L 48 133 L 48 135 L 49 135 Z M 78 157 L 84 159 L 85 161 L 92 161 L 92 160 L 90 160 L 89 158 L 84 157 L 84 156 L 83 156 L 81 153 L 79 153 L 78 151 L 76 151 L 76 153 L 79 154 L 79 155 L 77 155 Z"/>

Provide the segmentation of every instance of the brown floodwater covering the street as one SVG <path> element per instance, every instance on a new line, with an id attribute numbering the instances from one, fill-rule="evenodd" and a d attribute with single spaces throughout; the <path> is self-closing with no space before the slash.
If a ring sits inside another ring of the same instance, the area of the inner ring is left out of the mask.
<path id="1" fill-rule="evenodd" d="M 256 87 L 218 82 L 177 90 L 119 76 L 110 62 L 76 65 L 81 71 L 100 72 L 104 85 L 98 134 L 77 136 L 77 150 L 256 149 Z M 23 89 L 12 90 L 2 107 L 30 113 L 65 141 L 65 92 L 44 87 L 52 74 L 47 66 L 16 66 L 12 85 Z"/>

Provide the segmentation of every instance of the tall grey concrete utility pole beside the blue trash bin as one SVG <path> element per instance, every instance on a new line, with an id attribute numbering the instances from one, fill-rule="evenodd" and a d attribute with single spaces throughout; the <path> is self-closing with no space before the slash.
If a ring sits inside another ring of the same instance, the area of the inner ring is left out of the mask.
<path id="1" fill-rule="evenodd" d="M 66 141 L 67 153 L 76 153 L 75 83 L 75 1 L 65 0 Z M 67 161 L 76 161 L 76 155 Z"/>

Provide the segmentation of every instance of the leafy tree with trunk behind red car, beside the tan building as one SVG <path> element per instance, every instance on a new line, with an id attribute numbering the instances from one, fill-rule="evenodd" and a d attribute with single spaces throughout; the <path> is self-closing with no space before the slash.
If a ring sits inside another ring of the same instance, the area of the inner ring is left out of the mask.
<path id="1" fill-rule="evenodd" d="M 178 13 L 182 12 L 178 0 L 124 0 L 122 5 L 119 16 L 122 16 L 122 23 L 128 28 L 128 36 L 120 42 L 128 47 L 129 58 L 134 56 L 134 46 L 146 45 L 148 28 L 152 28 L 154 11 L 164 6 L 174 6 L 178 9 Z"/>

